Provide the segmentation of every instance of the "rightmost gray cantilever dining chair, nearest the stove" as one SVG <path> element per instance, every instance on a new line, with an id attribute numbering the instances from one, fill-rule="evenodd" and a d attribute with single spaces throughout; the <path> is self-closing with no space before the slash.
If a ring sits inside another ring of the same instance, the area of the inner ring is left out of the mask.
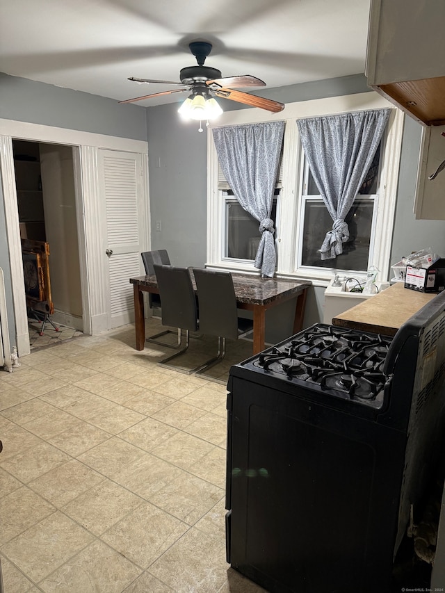
<path id="1" fill-rule="evenodd" d="M 238 317 L 234 282 L 230 272 L 193 268 L 193 275 L 200 307 L 200 332 L 218 337 L 216 357 L 195 371 L 202 374 L 223 360 L 226 339 L 237 340 L 252 332 L 253 321 Z"/>

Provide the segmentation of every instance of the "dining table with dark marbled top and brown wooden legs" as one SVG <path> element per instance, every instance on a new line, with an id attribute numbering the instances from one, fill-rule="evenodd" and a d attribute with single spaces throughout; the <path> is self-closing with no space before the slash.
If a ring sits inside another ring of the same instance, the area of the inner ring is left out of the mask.
<path id="1" fill-rule="evenodd" d="M 195 287 L 195 281 L 192 281 Z M 248 274 L 232 274 L 238 309 L 253 312 L 253 353 L 264 350 L 266 311 L 282 302 L 296 298 L 293 333 L 302 330 L 307 289 L 312 282 L 287 278 L 262 278 Z M 130 278 L 133 284 L 134 321 L 136 326 L 136 350 L 145 346 L 145 320 L 143 293 L 159 293 L 156 276 Z"/>

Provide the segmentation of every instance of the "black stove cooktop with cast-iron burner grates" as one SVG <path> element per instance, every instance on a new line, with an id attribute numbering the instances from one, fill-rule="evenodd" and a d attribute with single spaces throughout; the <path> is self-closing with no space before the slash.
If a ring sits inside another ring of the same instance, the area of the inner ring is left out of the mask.
<path id="1" fill-rule="evenodd" d="M 383 364 L 392 338 L 316 324 L 253 357 L 265 375 L 380 407 L 387 382 Z"/>

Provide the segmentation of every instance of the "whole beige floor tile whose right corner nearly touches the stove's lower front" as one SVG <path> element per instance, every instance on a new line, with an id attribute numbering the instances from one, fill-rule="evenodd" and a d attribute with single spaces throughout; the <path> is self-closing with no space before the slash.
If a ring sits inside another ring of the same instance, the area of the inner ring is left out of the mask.
<path id="1" fill-rule="evenodd" d="M 196 523 L 224 495 L 224 490 L 184 472 L 150 497 L 150 502 L 188 525 Z"/>

